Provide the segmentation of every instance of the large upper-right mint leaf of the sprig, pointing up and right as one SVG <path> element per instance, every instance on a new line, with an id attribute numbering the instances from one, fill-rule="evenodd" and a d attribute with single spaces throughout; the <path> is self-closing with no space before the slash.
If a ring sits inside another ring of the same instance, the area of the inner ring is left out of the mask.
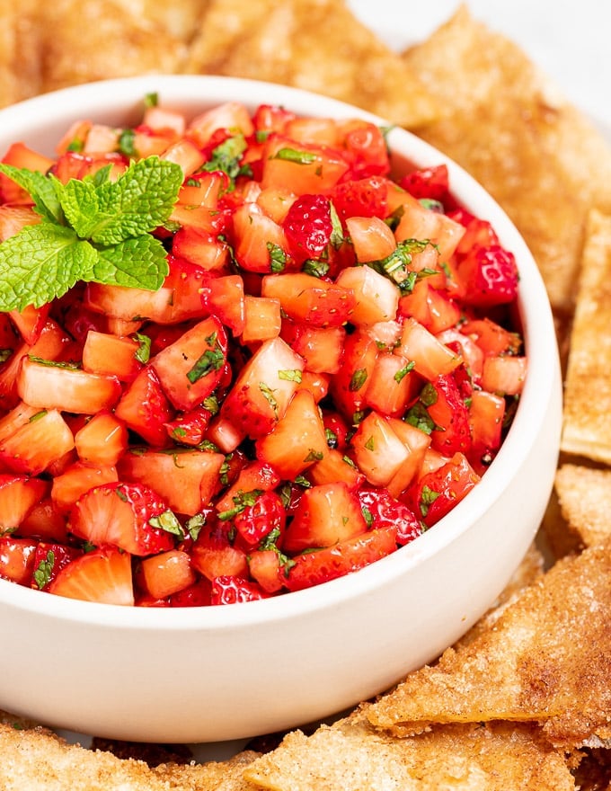
<path id="1" fill-rule="evenodd" d="M 162 225 L 172 213 L 182 168 L 158 156 L 130 164 L 116 182 L 98 188 L 99 219 L 91 234 L 98 244 L 117 244 Z"/>

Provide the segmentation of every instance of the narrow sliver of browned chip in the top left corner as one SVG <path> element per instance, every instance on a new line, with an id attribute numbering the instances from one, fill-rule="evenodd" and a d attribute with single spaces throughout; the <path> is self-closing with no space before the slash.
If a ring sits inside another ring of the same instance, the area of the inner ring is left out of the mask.
<path id="1" fill-rule="evenodd" d="M 0 0 L 0 106 L 40 92 L 37 0 Z"/>

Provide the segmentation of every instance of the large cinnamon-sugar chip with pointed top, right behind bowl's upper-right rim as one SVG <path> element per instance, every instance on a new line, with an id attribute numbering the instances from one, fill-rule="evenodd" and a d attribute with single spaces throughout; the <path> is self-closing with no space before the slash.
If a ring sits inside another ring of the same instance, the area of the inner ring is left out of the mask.
<path id="1" fill-rule="evenodd" d="M 443 108 L 418 134 L 491 192 L 570 313 L 589 209 L 611 210 L 611 148 L 512 41 L 465 7 L 404 53 Z"/>

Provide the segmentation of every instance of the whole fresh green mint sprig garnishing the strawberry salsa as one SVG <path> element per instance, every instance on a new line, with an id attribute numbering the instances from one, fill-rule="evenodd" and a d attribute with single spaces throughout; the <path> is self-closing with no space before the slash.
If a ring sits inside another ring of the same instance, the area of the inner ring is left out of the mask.
<path id="1" fill-rule="evenodd" d="M 63 184 L 8 164 L 8 176 L 34 201 L 40 222 L 0 244 L 0 310 L 40 307 L 79 280 L 156 290 L 168 273 L 164 245 L 151 235 L 172 213 L 182 169 L 158 156 Z"/>

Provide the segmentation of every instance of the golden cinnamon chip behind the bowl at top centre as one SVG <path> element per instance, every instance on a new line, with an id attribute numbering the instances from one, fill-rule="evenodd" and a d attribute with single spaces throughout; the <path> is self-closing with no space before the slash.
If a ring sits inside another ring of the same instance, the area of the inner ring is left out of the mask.
<path id="1" fill-rule="evenodd" d="M 211 0 L 187 70 L 293 85 L 406 127 L 437 113 L 401 57 L 338 0 Z"/>

